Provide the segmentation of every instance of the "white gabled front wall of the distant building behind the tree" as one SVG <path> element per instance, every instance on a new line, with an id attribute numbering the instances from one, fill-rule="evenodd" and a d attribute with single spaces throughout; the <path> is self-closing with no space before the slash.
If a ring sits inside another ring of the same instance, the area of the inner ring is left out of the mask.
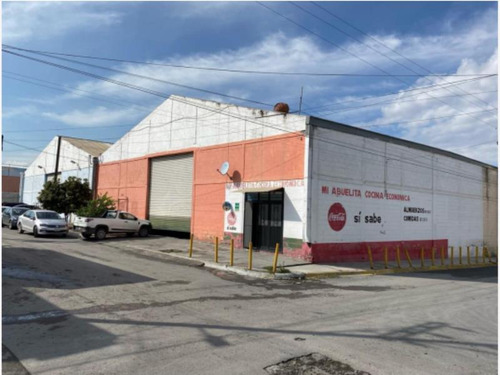
<path id="1" fill-rule="evenodd" d="M 54 137 L 43 149 L 36 159 L 26 169 L 21 199 L 24 203 L 37 204 L 38 194 L 43 189 L 45 175 L 54 173 L 56 167 L 57 137 Z M 78 164 L 74 164 L 71 160 Z M 73 146 L 71 143 L 61 140 L 59 156 L 59 172 L 61 181 L 70 176 L 88 179 L 92 186 L 92 157 L 85 151 Z M 43 168 L 39 168 L 38 166 Z"/>

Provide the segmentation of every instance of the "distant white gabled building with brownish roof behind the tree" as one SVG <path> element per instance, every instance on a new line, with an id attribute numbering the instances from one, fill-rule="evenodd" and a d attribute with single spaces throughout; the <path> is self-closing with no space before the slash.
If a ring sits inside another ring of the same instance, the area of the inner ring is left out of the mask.
<path id="1" fill-rule="evenodd" d="M 59 141 L 60 139 L 60 141 Z M 57 136 L 43 149 L 24 173 L 22 201 L 38 203 L 38 194 L 49 179 L 63 182 L 70 176 L 87 179 L 94 186 L 94 165 L 97 158 L 108 149 L 110 143 L 88 139 Z M 59 148 L 59 160 L 57 158 Z"/>

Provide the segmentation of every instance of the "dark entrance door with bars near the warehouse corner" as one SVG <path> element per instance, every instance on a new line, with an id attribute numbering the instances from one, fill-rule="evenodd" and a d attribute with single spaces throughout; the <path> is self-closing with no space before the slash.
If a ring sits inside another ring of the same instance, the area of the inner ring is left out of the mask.
<path id="1" fill-rule="evenodd" d="M 250 238 L 254 248 L 274 250 L 276 243 L 283 248 L 283 189 L 245 194 L 244 245 Z"/>

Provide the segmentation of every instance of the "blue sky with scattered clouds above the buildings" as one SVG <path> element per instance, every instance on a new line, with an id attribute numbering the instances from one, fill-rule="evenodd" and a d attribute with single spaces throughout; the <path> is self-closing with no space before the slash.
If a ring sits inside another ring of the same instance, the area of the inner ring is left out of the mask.
<path id="1" fill-rule="evenodd" d="M 298 111 L 301 90 L 302 114 L 497 165 L 496 2 L 2 8 L 4 165 L 56 135 L 113 143 L 171 94 Z"/>

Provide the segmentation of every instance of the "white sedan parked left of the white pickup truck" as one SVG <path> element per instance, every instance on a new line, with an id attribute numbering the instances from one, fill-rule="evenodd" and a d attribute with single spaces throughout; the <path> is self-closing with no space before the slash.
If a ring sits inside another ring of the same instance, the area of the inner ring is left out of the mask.
<path id="1" fill-rule="evenodd" d="M 68 225 L 55 211 L 29 210 L 17 220 L 19 233 L 31 232 L 34 237 L 57 234 L 66 237 Z"/>

